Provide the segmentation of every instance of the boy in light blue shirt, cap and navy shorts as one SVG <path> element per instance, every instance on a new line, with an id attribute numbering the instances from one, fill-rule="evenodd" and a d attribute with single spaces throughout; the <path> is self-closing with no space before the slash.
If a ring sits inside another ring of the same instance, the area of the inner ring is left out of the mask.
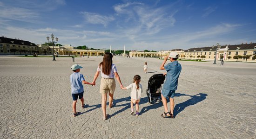
<path id="1" fill-rule="evenodd" d="M 71 94 L 73 97 L 73 104 L 72 104 L 73 117 L 78 115 L 78 112 L 76 112 L 76 102 L 78 97 L 81 100 L 82 108 L 85 108 L 84 98 L 83 98 L 84 88 L 82 83 L 94 85 L 93 83 L 85 81 L 84 76 L 81 73 L 79 73 L 81 68 L 83 67 L 81 67 L 78 64 L 74 64 L 71 66 L 71 69 L 74 71 L 74 73 L 70 75 Z"/>

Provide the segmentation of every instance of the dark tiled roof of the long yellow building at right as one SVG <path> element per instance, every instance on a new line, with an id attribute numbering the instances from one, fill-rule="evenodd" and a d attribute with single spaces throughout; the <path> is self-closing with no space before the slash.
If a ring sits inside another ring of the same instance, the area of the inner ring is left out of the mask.
<path id="1" fill-rule="evenodd" d="M 227 45 L 221 46 L 222 48 L 226 48 Z M 249 50 L 249 49 L 255 49 L 256 43 L 251 44 L 236 44 L 236 45 L 228 45 L 229 51 L 230 50 L 237 50 L 237 47 L 239 47 L 238 50 Z M 198 52 L 198 51 L 216 51 L 217 46 L 210 46 L 210 47 L 199 47 L 199 48 L 190 48 L 188 50 L 185 50 L 184 52 Z"/>

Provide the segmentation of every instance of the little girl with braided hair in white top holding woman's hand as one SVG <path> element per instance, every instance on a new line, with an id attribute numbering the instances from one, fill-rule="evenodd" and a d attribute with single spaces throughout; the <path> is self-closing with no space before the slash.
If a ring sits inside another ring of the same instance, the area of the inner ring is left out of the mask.
<path id="1" fill-rule="evenodd" d="M 143 92 L 142 86 L 140 84 L 141 76 L 135 75 L 133 77 L 133 83 L 128 85 L 127 87 L 123 87 L 121 89 L 129 89 L 131 88 L 131 115 L 134 114 L 133 104 L 136 105 L 136 116 L 139 116 L 139 102 L 141 100 L 141 93 Z"/>

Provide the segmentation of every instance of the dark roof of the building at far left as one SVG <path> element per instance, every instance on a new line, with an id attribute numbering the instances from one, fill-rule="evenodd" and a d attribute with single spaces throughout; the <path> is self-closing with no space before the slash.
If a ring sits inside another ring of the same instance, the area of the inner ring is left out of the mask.
<path id="1" fill-rule="evenodd" d="M 27 46 L 38 47 L 36 44 L 31 43 L 29 41 L 24 41 L 24 40 L 20 40 L 20 39 L 13 39 L 13 38 L 5 38 L 5 37 L 0 37 L 0 43 L 16 44 L 16 45 L 27 45 Z"/>

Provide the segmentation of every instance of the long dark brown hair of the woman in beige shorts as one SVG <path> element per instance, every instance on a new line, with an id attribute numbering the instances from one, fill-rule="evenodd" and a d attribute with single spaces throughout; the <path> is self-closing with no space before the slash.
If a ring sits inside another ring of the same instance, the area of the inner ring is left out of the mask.
<path id="1" fill-rule="evenodd" d="M 111 73 L 112 58 L 113 55 L 110 52 L 106 52 L 103 57 L 103 61 L 99 65 L 105 75 L 110 75 Z"/>

